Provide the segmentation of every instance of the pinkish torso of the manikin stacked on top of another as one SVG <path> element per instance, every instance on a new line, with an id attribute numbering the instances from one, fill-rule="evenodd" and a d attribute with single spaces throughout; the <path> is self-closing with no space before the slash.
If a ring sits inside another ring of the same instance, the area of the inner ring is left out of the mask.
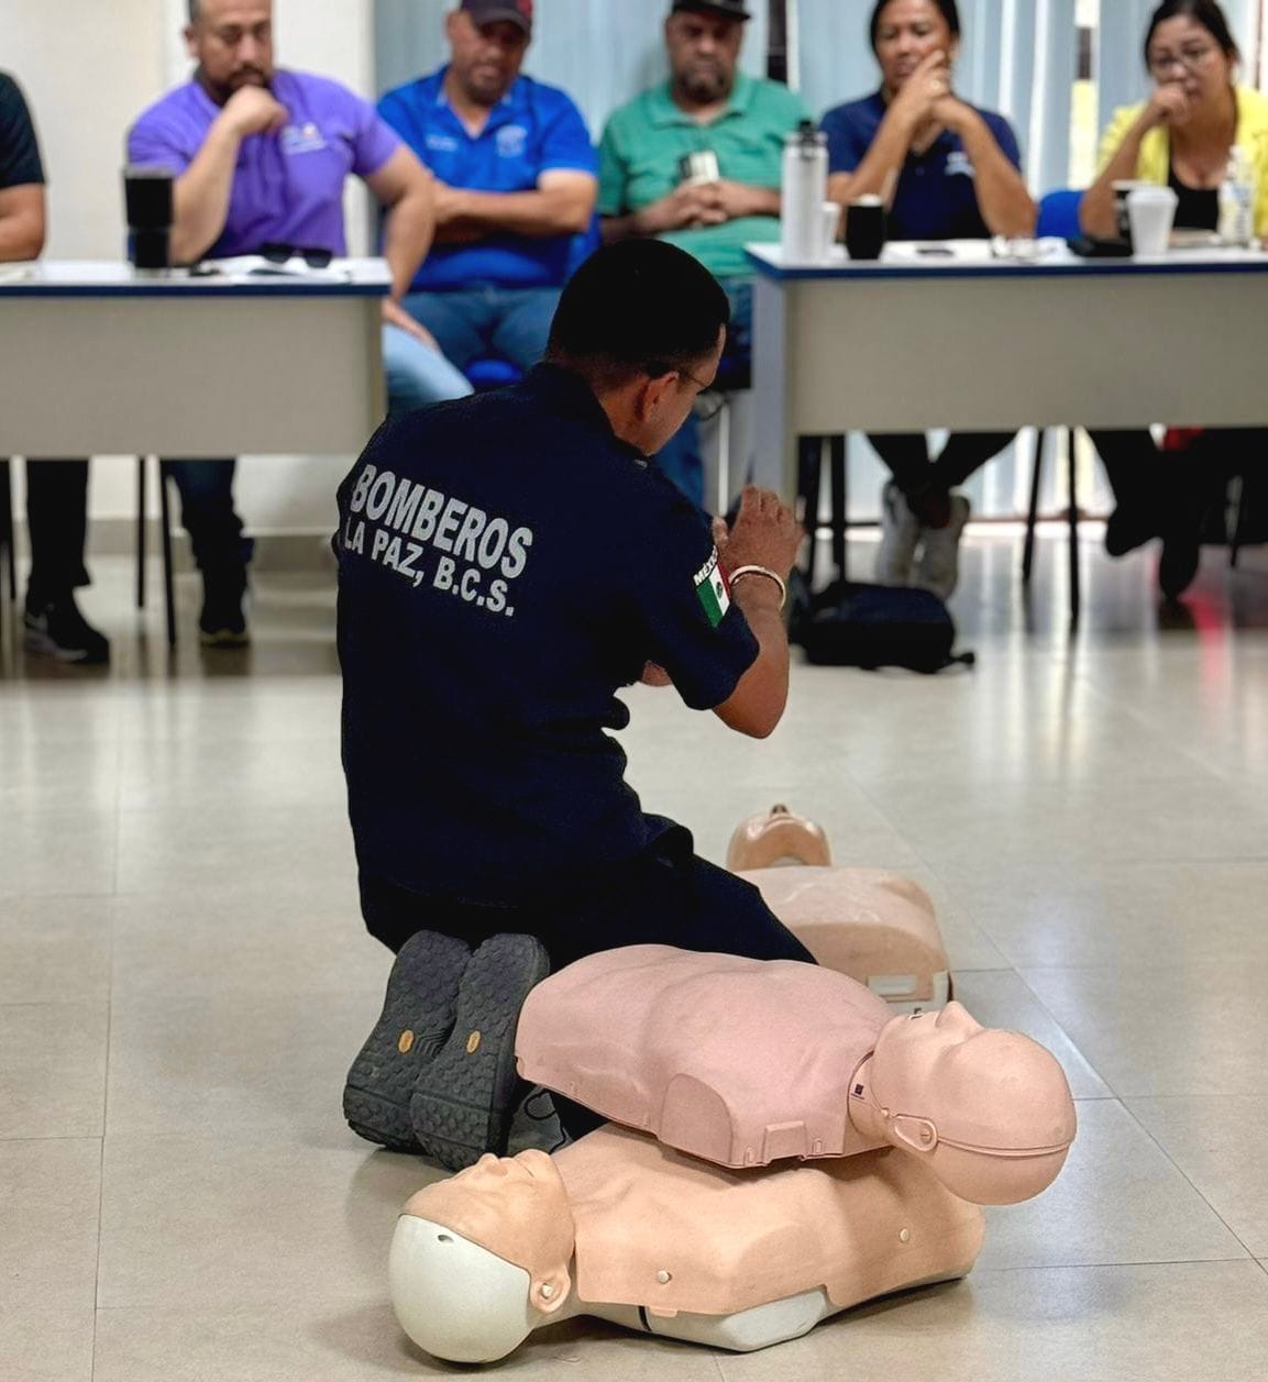
<path id="1" fill-rule="evenodd" d="M 614 1122 L 720 1166 L 756 1166 L 885 1144 L 848 1106 L 892 1019 L 834 970 L 635 945 L 539 984 L 516 1053 L 525 1079 Z"/>

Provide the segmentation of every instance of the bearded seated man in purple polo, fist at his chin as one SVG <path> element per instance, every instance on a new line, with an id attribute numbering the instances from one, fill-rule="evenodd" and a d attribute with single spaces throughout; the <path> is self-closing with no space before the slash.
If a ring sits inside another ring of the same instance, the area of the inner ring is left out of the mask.
<path id="1" fill-rule="evenodd" d="M 178 263 L 271 246 L 347 253 L 343 189 L 364 178 L 387 209 L 383 358 L 394 412 L 470 392 L 400 300 L 436 228 L 430 174 L 369 102 L 326 77 L 274 68 L 272 0 L 189 0 L 194 80 L 133 126 L 129 159 L 177 176 Z M 232 460 L 174 460 L 181 517 L 203 575 L 207 647 L 248 641 L 242 598 L 249 543 L 234 511 Z"/>

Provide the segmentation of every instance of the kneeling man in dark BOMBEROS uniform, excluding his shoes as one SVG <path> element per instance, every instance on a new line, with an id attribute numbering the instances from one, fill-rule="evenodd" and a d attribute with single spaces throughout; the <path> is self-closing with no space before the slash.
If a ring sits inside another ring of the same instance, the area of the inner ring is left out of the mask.
<path id="1" fill-rule="evenodd" d="M 342 485 L 343 766 L 365 923 L 393 951 L 523 933 L 554 967 L 643 943 L 810 960 L 756 889 L 643 813 L 608 732 L 618 692 L 658 672 L 741 734 L 784 712 L 795 518 L 749 489 L 715 532 L 647 460 L 712 383 L 729 318 L 683 250 L 600 250 L 546 363 L 389 422 Z"/>

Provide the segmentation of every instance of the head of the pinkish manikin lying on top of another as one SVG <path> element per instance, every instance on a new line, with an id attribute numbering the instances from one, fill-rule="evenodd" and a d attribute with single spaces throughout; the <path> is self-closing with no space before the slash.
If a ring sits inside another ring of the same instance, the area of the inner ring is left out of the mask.
<path id="1" fill-rule="evenodd" d="M 972 1204 L 1041 1194 L 1074 1140 L 1074 1101 L 1051 1052 L 980 1027 L 960 1003 L 888 1023 L 864 1088 L 864 1121 Z"/>

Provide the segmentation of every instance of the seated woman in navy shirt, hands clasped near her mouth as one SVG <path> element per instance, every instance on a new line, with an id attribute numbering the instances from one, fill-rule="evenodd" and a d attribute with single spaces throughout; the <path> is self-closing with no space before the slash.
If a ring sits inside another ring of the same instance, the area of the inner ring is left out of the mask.
<path id="1" fill-rule="evenodd" d="M 884 198 L 896 240 L 1033 235 L 1037 210 L 1022 181 L 1016 135 L 1003 116 L 975 109 L 951 90 L 955 0 L 878 0 L 871 47 L 881 90 L 823 119 L 828 196 L 842 206 L 867 193 Z M 931 463 L 924 434 L 870 438 L 893 474 L 882 502 L 879 582 L 950 596 L 969 514 L 968 500 L 951 491 L 1011 439 L 954 435 Z"/>

